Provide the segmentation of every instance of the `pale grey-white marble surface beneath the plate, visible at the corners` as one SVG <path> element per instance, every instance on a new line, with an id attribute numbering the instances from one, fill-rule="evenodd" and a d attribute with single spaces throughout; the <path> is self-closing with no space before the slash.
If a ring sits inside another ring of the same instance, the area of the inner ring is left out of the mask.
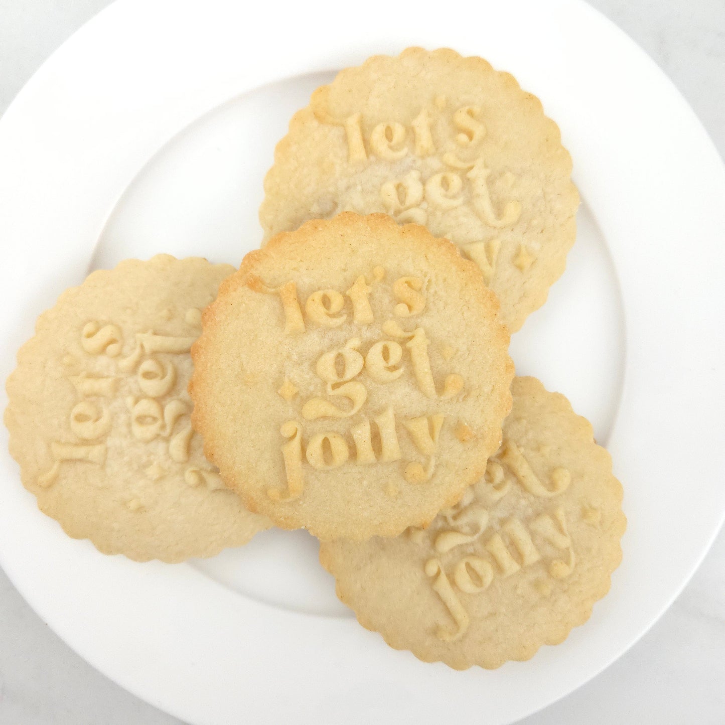
<path id="1" fill-rule="evenodd" d="M 590 0 L 674 80 L 725 155 L 725 0 Z M 0 0 L 0 113 L 108 0 Z M 724 201 L 725 203 L 725 201 Z M 725 533 L 612 667 L 525 725 L 723 725 Z M 0 725 L 172 725 L 75 655 L 0 570 Z"/>

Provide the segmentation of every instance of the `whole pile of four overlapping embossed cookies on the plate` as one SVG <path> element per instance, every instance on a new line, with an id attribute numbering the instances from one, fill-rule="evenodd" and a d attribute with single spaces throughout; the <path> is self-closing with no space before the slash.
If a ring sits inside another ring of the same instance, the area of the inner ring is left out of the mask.
<path id="1" fill-rule="evenodd" d="M 592 426 L 508 355 L 578 204 L 512 76 L 417 48 L 344 70 L 278 144 L 239 270 L 128 260 L 41 315 L 7 381 L 23 484 L 138 561 L 307 529 L 392 647 L 530 658 L 589 618 L 626 523 Z"/>

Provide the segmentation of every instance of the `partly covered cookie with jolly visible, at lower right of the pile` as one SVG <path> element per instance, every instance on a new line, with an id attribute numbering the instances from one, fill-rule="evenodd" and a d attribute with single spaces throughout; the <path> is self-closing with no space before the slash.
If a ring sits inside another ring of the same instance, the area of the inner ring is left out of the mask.
<path id="1" fill-rule="evenodd" d="M 621 560 L 622 487 L 592 426 L 535 378 L 512 392 L 502 447 L 455 508 L 320 550 L 360 624 L 426 662 L 496 668 L 562 642 Z"/>

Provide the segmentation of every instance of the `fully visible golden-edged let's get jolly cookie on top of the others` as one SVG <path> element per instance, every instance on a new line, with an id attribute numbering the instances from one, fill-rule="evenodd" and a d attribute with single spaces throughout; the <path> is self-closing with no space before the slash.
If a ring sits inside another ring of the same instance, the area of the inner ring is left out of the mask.
<path id="1" fill-rule="evenodd" d="M 421 226 L 346 213 L 244 258 L 204 311 L 194 427 L 247 506 L 321 539 L 453 505 L 510 410 L 498 302 Z"/>

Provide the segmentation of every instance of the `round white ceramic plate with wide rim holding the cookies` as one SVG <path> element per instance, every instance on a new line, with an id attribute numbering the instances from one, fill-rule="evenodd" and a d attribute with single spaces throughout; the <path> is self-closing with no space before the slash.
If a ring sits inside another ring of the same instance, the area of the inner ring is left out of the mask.
<path id="1" fill-rule="evenodd" d="M 194 724 L 508 723 L 624 653 L 720 526 L 724 169 L 653 62 L 576 0 L 244 6 L 120 0 L 0 120 L 1 374 L 94 266 L 256 247 L 273 145 L 334 70 L 411 44 L 481 54 L 542 99 L 574 158 L 579 241 L 512 353 L 613 454 L 629 529 L 612 591 L 563 645 L 455 672 L 357 626 L 304 533 L 203 563 L 107 558 L 38 513 L 4 450 L 0 563 L 80 655 Z"/>

